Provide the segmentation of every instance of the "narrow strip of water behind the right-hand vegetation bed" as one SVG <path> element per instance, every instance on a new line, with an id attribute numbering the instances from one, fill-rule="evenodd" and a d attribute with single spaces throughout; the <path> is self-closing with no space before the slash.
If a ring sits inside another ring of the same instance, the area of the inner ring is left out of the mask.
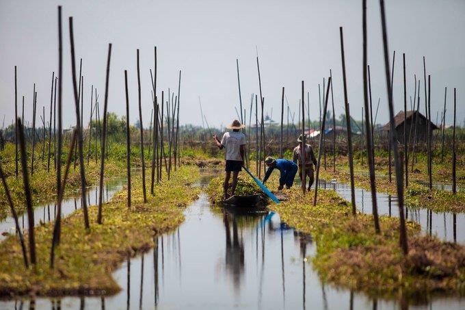
<path id="1" fill-rule="evenodd" d="M 341 197 L 351 200 L 350 185 L 345 183 L 319 181 L 319 188 L 335 190 Z M 359 211 L 371 214 L 371 191 L 355 188 L 355 201 Z M 397 196 L 377 192 L 378 214 L 399 216 Z M 406 207 L 406 219 L 421 225 L 424 233 L 436 235 L 444 241 L 465 243 L 465 214 L 434 212 L 428 209 Z"/>

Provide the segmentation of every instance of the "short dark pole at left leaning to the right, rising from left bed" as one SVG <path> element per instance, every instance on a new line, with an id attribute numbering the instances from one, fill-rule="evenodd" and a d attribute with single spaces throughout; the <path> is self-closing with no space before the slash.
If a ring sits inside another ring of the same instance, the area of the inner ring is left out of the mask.
<path id="1" fill-rule="evenodd" d="M 66 167 L 64 169 L 64 177 L 61 188 L 59 189 L 57 196 L 57 216 L 55 218 L 55 224 L 53 225 L 53 236 L 52 236 L 52 246 L 50 251 L 50 268 L 53 269 L 53 264 L 55 262 L 55 247 L 59 245 L 60 235 L 61 235 L 61 225 L 62 225 L 62 201 L 64 196 L 64 188 L 66 186 L 66 179 L 68 179 L 68 172 L 72 160 L 72 151 L 75 149 L 75 144 L 77 140 L 78 130 L 75 129 L 72 132 L 72 140 L 70 144 L 70 151 L 68 153 L 68 159 L 66 160 Z M 85 200 L 85 198 L 84 198 Z"/>

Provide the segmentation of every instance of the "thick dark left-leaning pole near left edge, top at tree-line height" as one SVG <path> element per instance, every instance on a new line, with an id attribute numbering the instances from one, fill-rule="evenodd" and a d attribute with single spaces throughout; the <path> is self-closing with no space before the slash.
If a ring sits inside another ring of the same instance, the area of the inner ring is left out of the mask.
<path id="1" fill-rule="evenodd" d="M 23 172 L 24 193 L 27 207 L 27 222 L 29 224 L 29 255 L 31 263 L 36 265 L 36 238 L 34 236 L 34 209 L 32 207 L 31 188 L 29 186 L 29 174 L 27 173 L 26 141 L 24 138 L 23 123 L 17 120 L 19 127 L 19 146 L 21 150 L 21 170 Z"/>

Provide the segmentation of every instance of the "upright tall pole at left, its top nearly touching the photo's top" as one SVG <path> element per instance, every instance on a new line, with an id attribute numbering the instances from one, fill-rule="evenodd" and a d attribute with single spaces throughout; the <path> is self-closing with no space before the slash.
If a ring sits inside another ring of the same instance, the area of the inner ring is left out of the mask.
<path id="1" fill-rule="evenodd" d="M 63 38 L 62 6 L 58 5 L 58 137 L 56 151 L 57 192 L 62 183 L 62 75 L 63 73 Z"/>

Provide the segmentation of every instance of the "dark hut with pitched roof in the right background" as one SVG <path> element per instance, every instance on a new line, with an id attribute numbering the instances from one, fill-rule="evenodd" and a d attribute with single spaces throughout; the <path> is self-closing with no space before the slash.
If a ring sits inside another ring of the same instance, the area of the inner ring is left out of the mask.
<path id="1" fill-rule="evenodd" d="M 417 122 L 418 120 L 418 122 Z M 414 138 L 414 133 L 415 133 L 415 126 L 416 126 L 416 140 L 417 141 L 426 141 L 427 138 L 427 133 L 428 133 L 428 120 L 426 119 L 423 114 L 420 112 L 416 111 L 407 111 L 406 114 L 406 119 L 404 122 L 404 115 L 403 111 L 397 113 L 397 115 L 394 117 L 394 127 L 397 132 L 397 140 L 403 144 L 403 129 L 406 128 L 406 137 L 407 141 L 410 139 L 410 127 L 412 127 L 412 139 Z M 388 133 L 390 129 L 390 124 L 389 122 L 381 127 L 381 131 L 384 133 Z M 438 126 L 434 124 L 434 122 L 431 122 L 431 125 L 429 126 L 429 136 L 433 134 L 433 131 L 435 129 L 439 129 Z"/>

